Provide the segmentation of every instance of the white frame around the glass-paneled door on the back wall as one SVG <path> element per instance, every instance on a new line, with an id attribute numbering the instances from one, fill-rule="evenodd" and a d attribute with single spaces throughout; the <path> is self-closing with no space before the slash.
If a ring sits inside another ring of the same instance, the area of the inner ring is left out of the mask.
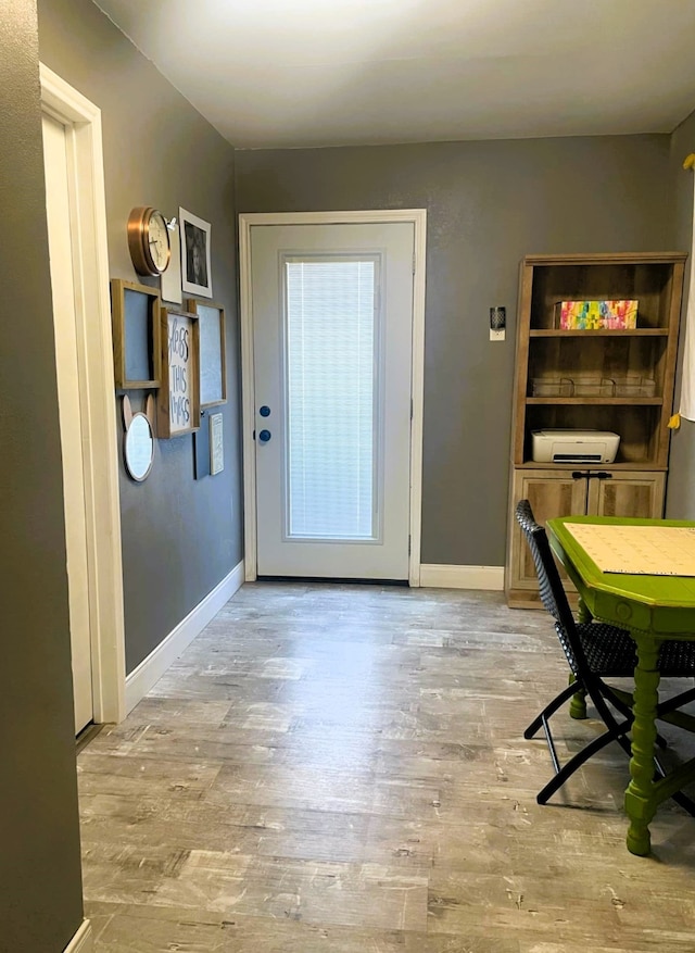
<path id="1" fill-rule="evenodd" d="M 256 212 L 239 215 L 239 271 L 241 305 L 241 388 L 243 431 L 244 573 L 247 582 L 257 578 L 256 457 L 253 439 L 255 383 L 253 377 L 253 290 L 251 283 L 251 229 L 254 225 L 386 225 L 412 222 L 415 226 L 413 262 L 413 356 L 410 367 L 410 552 L 408 584 L 420 585 L 422 513 L 422 403 L 425 379 L 425 279 L 427 210 L 389 209 L 356 212 Z"/>

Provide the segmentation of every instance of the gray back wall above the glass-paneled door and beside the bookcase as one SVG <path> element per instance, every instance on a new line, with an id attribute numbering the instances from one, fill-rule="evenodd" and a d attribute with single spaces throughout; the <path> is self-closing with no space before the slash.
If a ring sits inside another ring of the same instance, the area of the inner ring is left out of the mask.
<path id="1" fill-rule="evenodd" d="M 239 212 L 428 210 L 424 563 L 504 563 L 521 258 L 664 249 L 668 163 L 668 136 L 237 152 Z"/>

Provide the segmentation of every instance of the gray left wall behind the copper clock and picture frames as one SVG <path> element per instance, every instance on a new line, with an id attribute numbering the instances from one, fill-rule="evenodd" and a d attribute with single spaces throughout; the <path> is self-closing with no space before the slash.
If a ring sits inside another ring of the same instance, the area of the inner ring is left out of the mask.
<path id="1" fill-rule="evenodd" d="M 42 62 L 102 111 L 111 277 L 148 280 L 128 253 L 130 210 L 178 216 L 181 205 L 212 224 L 213 293 L 226 309 L 224 472 L 193 479 L 191 435 L 159 440 L 142 484 L 121 462 L 131 672 L 242 559 L 233 150 L 90 0 L 39 0 L 39 40 Z M 131 398 L 143 409 L 143 392 Z"/>

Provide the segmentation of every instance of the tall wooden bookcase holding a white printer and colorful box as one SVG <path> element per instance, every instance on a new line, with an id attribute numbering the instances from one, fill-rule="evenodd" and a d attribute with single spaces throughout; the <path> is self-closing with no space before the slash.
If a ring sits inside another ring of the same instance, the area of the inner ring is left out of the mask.
<path id="1" fill-rule="evenodd" d="M 553 516 L 664 515 L 685 253 L 531 255 L 521 263 L 505 592 L 538 607 L 533 561 L 515 519 L 528 499 Z M 563 330 L 566 300 L 636 299 L 634 330 Z M 612 464 L 534 463 L 531 431 L 611 430 Z M 568 588 L 569 580 L 565 577 Z"/>

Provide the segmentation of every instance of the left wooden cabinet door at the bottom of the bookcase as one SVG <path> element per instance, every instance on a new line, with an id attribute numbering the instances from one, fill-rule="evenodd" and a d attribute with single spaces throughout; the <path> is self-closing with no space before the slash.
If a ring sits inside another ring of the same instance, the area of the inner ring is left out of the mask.
<path id="1" fill-rule="evenodd" d="M 586 513 L 586 478 L 572 479 L 569 471 L 517 469 L 514 472 L 514 502 L 510 525 L 510 565 L 508 589 L 538 591 L 539 584 L 533 556 L 514 516 L 519 500 L 528 500 L 533 515 L 541 525 L 553 516 L 583 516 Z M 560 575 L 570 586 L 565 570 Z"/>

